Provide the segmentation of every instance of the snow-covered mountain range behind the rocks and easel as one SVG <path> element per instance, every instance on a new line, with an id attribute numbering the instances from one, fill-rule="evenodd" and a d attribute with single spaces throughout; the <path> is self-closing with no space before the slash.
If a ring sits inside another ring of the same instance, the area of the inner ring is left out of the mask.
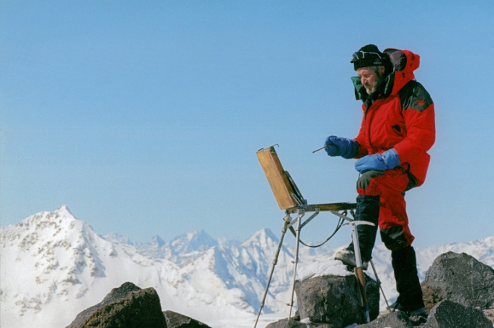
<path id="1" fill-rule="evenodd" d="M 131 242 L 115 233 L 98 235 L 61 206 L 0 229 L 0 326 L 36 322 L 37 327 L 65 327 L 77 313 L 130 281 L 156 289 L 163 310 L 211 327 L 253 327 L 277 249 L 278 237 L 269 229 L 241 243 L 216 240 L 205 231 L 190 231 L 170 242 L 158 236 Z M 333 260 L 337 250 L 301 248 L 298 279 L 350 274 Z M 446 251 L 465 252 L 494 267 L 494 235 L 416 250 L 421 279 Z M 390 252 L 381 245 L 373 255 L 386 297 L 392 300 L 397 295 Z M 293 249 L 283 246 L 258 327 L 287 316 L 292 260 Z"/>

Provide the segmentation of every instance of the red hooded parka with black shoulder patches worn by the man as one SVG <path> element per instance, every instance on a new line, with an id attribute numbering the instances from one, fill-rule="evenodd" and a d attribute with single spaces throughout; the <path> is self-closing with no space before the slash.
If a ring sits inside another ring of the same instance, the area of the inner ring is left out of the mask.
<path id="1" fill-rule="evenodd" d="M 371 99 L 359 77 L 353 77 L 357 99 L 363 101 L 363 119 L 356 158 L 383 153 L 395 148 L 400 166 L 417 179 L 417 186 L 426 180 L 430 155 L 435 142 L 433 100 L 426 89 L 415 81 L 414 70 L 420 57 L 408 50 L 386 49 L 392 63 L 392 73 L 386 78 L 383 92 Z"/>

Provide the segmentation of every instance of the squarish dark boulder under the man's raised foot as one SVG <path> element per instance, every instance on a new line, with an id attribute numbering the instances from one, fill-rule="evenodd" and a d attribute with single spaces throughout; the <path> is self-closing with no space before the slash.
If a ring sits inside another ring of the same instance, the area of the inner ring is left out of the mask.
<path id="1" fill-rule="evenodd" d="M 379 286 L 368 276 L 365 276 L 365 285 L 370 320 L 373 320 L 379 314 Z M 355 276 L 319 276 L 297 281 L 295 291 L 301 319 L 327 323 L 333 328 L 365 322 L 357 289 Z"/>

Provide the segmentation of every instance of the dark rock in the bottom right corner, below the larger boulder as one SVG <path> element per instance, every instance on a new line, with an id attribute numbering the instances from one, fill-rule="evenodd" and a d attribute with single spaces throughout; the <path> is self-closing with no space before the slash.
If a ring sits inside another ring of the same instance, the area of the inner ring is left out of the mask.
<path id="1" fill-rule="evenodd" d="M 430 311 L 426 328 L 493 328 L 482 310 L 443 300 Z"/>

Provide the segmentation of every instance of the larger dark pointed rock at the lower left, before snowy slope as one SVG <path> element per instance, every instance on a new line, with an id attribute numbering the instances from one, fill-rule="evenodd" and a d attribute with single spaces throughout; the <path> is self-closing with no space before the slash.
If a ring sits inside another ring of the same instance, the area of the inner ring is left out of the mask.
<path id="1" fill-rule="evenodd" d="M 155 289 L 140 289 L 125 282 L 112 289 L 102 302 L 79 313 L 67 328 L 79 327 L 167 328 L 167 322 Z"/>

